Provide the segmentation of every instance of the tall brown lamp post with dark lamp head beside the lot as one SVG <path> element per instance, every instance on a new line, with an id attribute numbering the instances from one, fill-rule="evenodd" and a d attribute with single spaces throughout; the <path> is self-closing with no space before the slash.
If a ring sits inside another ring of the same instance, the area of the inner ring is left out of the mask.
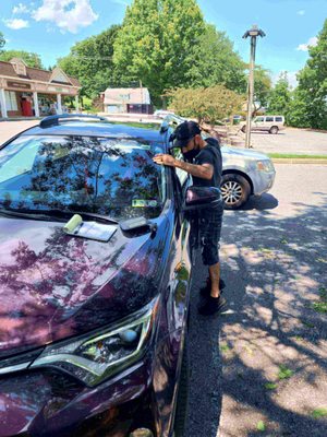
<path id="1" fill-rule="evenodd" d="M 246 31 L 243 35 L 243 38 L 247 38 L 251 36 L 251 54 L 250 54 L 250 72 L 249 72 L 249 85 L 247 85 L 247 110 L 246 110 L 246 131 L 245 131 L 245 147 L 250 149 L 251 141 L 251 117 L 252 117 L 252 106 L 253 106 L 253 95 L 254 95 L 254 63 L 255 63 L 255 48 L 256 48 L 256 38 L 261 36 L 262 38 L 266 36 L 266 34 L 257 27 L 257 25 L 253 25 L 250 31 Z"/>

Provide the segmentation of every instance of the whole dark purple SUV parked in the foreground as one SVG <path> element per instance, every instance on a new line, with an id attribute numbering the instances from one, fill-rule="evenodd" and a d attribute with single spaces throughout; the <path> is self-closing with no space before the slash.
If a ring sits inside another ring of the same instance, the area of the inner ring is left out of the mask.
<path id="1" fill-rule="evenodd" d="M 53 116 L 2 145 L 0 436 L 182 435 L 192 189 L 153 162 L 169 137 Z"/>

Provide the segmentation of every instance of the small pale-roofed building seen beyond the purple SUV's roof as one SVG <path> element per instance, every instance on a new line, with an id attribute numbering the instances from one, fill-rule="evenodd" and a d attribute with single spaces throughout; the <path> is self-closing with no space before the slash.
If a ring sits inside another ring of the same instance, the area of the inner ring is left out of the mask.
<path id="1" fill-rule="evenodd" d="M 147 88 L 107 88 L 101 94 L 104 110 L 107 114 L 153 114 Z"/>

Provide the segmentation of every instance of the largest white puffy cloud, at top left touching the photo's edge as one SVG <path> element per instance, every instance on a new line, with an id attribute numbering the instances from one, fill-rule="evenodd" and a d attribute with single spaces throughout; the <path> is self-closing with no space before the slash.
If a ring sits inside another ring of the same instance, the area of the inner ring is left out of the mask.
<path id="1" fill-rule="evenodd" d="M 48 21 L 62 32 L 75 34 L 80 27 L 89 26 L 98 19 L 89 0 L 43 0 L 32 16 L 36 21 Z"/>

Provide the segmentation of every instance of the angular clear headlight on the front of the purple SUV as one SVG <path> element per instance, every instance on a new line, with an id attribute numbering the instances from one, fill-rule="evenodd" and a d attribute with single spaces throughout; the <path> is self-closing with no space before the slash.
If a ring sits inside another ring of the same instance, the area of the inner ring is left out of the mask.
<path id="1" fill-rule="evenodd" d="M 144 355 L 158 305 L 156 298 L 118 326 L 64 344 L 50 344 L 31 368 L 57 367 L 87 386 L 96 386 Z"/>

